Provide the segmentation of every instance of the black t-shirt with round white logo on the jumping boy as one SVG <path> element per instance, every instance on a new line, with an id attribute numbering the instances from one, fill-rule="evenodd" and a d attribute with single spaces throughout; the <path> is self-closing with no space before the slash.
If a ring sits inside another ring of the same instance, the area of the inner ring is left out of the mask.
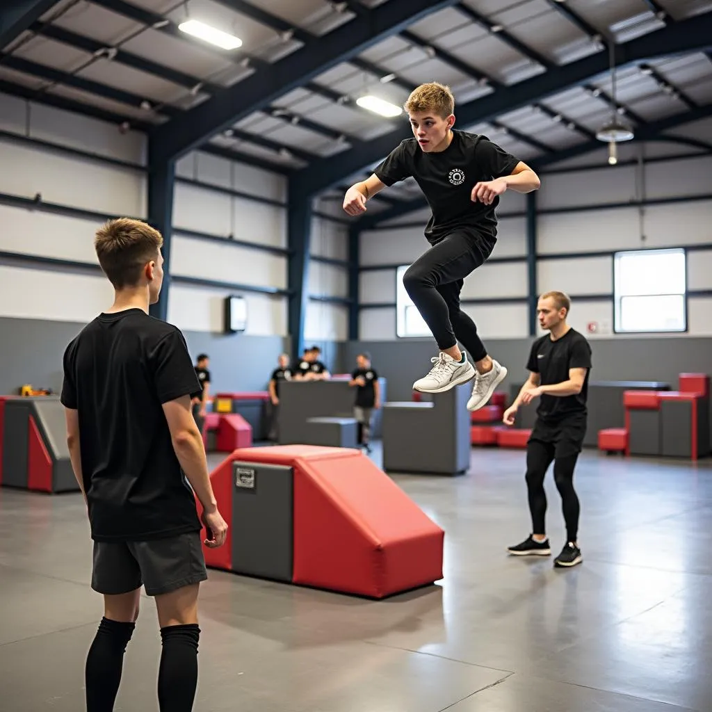
<path id="1" fill-rule="evenodd" d="M 472 189 L 478 182 L 511 175 L 518 162 L 486 136 L 454 130 L 450 145 L 441 152 L 424 152 L 414 138 L 402 141 L 374 173 L 388 186 L 414 177 L 432 212 L 425 228 L 431 244 L 462 229 L 483 240 L 489 253 L 497 237 L 499 197 L 491 205 L 473 202 Z"/>

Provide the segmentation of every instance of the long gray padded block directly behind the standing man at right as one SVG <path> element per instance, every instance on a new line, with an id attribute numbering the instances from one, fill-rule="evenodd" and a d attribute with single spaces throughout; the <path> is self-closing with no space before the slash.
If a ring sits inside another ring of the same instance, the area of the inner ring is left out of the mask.
<path id="1" fill-rule="evenodd" d="M 509 402 L 513 403 L 522 383 L 510 387 Z M 669 391 L 669 383 L 657 381 L 590 381 L 587 398 L 587 428 L 584 447 L 598 446 L 598 431 L 607 428 L 625 427 L 624 391 Z M 539 402 L 520 407 L 515 418 L 515 427 L 531 429 L 536 420 Z"/>

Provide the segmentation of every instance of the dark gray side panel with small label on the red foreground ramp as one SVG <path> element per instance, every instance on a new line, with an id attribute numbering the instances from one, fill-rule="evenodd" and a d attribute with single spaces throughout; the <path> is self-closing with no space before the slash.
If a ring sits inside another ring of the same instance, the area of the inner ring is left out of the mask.
<path id="1" fill-rule="evenodd" d="M 292 468 L 241 461 L 232 467 L 232 570 L 291 582 Z"/>

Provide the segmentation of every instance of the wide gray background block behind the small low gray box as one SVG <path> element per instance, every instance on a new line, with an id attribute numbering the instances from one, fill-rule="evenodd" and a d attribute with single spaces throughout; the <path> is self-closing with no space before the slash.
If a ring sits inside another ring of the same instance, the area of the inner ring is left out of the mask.
<path id="1" fill-rule="evenodd" d="M 379 378 L 381 399 L 386 399 L 386 380 Z M 356 389 L 348 379 L 283 381 L 279 384 L 278 443 L 315 444 L 313 418 L 353 419 Z M 382 411 L 373 413 L 371 438 L 381 434 Z"/>

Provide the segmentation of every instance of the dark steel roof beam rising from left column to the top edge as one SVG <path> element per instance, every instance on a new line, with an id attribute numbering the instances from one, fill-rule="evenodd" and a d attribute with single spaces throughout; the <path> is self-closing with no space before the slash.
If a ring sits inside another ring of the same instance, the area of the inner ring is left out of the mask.
<path id="1" fill-rule="evenodd" d="M 116 0 L 112 0 L 116 1 Z M 161 162 L 197 148 L 211 135 L 264 108 L 272 100 L 350 60 L 402 31 L 410 23 L 452 6 L 457 0 L 387 2 L 325 34 L 314 48 L 303 48 L 258 70 L 225 93 L 186 112 L 167 130 L 152 134 L 152 160 Z M 164 127 L 165 128 L 165 127 Z"/>

